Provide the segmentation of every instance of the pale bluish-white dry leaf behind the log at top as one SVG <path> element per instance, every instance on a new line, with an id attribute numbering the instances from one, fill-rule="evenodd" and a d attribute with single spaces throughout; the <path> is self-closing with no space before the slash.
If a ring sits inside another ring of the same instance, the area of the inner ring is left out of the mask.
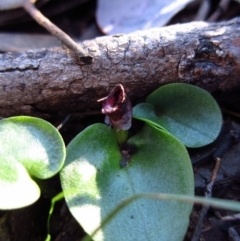
<path id="1" fill-rule="evenodd" d="M 97 22 L 106 34 L 164 26 L 192 0 L 99 0 Z"/>

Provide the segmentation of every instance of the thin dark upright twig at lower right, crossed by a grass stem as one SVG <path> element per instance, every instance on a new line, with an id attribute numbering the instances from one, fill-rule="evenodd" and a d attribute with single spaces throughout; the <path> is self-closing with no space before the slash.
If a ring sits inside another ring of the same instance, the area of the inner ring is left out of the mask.
<path id="1" fill-rule="evenodd" d="M 219 166 L 220 166 L 221 158 L 217 157 L 215 159 L 215 161 L 216 161 L 216 163 L 215 163 L 215 166 L 214 166 L 214 169 L 213 169 L 213 172 L 212 172 L 210 182 L 208 183 L 208 185 L 206 187 L 206 190 L 205 190 L 205 197 L 206 198 L 212 197 L 212 189 L 213 189 L 213 185 L 214 185 L 214 182 L 216 180 L 216 177 L 217 177 L 217 172 L 218 172 L 218 169 L 219 169 Z M 203 221 L 204 221 L 204 218 L 207 214 L 208 209 L 209 209 L 209 205 L 202 207 L 201 213 L 200 213 L 200 216 L 199 216 L 199 219 L 198 219 L 198 223 L 197 223 L 196 228 L 194 230 L 193 237 L 192 237 L 191 241 L 198 241 L 199 240 L 199 236 L 200 236 L 201 231 L 202 231 Z"/>

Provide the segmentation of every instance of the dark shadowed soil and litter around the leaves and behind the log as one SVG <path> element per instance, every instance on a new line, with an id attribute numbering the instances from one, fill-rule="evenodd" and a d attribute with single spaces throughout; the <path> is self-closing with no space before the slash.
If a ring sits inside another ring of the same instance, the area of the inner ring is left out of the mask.
<path id="1" fill-rule="evenodd" d="M 218 1 L 213 2 L 214 6 L 217 6 Z M 46 16 L 76 39 L 94 38 L 101 35 L 95 23 L 96 1 L 94 0 L 82 0 L 78 3 L 74 0 L 39 0 L 38 5 Z M 223 18 L 229 19 L 237 14 L 236 8 L 233 9 L 234 6 L 229 6 L 228 14 L 225 14 Z M 196 6 L 194 5 L 193 8 Z M 176 15 L 172 23 L 190 21 L 193 12 L 189 9 L 186 11 L 185 14 L 181 12 Z M 188 19 L 186 14 L 189 14 Z M 5 11 L 2 16 L 4 18 L 1 20 L 0 32 L 46 33 L 22 9 Z M 3 52 L 2 49 L 0 51 Z M 213 144 L 195 151 L 189 150 L 195 175 L 195 193 L 205 195 L 206 185 L 211 178 L 216 161 L 214 153 L 221 148 L 220 167 L 212 196 L 240 201 L 240 89 L 213 93 L 213 95 L 222 109 L 224 128 L 218 140 Z M 65 117 L 64 113 L 60 113 L 50 121 L 57 126 Z M 60 132 L 67 144 L 88 125 L 103 121 L 102 115 L 84 115 L 81 118 L 73 116 Z M 236 136 L 231 136 L 233 132 L 236 133 Z M 46 224 L 51 198 L 61 191 L 59 176 L 39 181 L 39 185 L 42 195 L 36 203 L 18 210 L 0 211 L 0 241 L 44 241 L 46 239 Z M 202 226 L 196 228 L 201 209 L 201 206 L 194 206 L 185 241 L 194 240 L 194 230 L 195 233 L 200 233 L 200 239 L 195 240 L 240 240 L 239 215 L 234 216 L 234 213 L 230 211 L 209 208 L 201 222 Z M 78 241 L 85 235 L 70 214 L 64 200 L 56 203 L 50 229 L 53 241 Z"/>

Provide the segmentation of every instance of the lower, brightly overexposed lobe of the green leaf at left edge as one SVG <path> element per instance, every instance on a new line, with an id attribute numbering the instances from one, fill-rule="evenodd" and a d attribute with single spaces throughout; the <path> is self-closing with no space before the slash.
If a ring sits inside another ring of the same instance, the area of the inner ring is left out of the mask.
<path id="1" fill-rule="evenodd" d="M 21 163 L 1 157 L 0 193 L 0 209 L 13 209 L 34 203 L 40 189 Z"/>

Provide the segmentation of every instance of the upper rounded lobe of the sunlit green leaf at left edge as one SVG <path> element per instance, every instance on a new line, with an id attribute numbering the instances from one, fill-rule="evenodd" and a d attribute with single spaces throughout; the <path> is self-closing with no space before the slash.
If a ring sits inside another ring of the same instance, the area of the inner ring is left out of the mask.
<path id="1" fill-rule="evenodd" d="M 15 160 L 31 176 L 50 178 L 63 166 L 65 146 L 50 123 L 34 117 L 19 116 L 0 121 L 0 162 Z"/>

